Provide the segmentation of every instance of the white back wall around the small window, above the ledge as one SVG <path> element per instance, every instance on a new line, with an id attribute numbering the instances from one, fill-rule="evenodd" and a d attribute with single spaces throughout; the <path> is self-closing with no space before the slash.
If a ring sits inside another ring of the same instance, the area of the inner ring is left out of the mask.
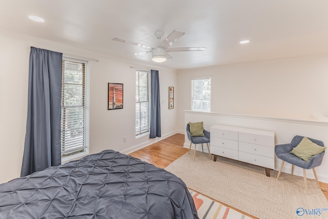
<path id="1" fill-rule="evenodd" d="M 327 70 L 327 54 L 180 70 L 178 128 L 191 109 L 191 79 L 204 76 L 212 78 L 212 112 L 326 120 Z"/>

